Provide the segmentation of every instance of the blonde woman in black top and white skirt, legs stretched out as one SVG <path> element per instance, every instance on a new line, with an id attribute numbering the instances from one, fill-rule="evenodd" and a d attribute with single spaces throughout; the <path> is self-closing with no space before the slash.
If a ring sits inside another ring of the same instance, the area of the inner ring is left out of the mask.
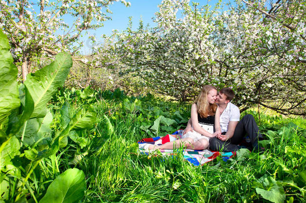
<path id="1" fill-rule="evenodd" d="M 203 87 L 191 106 L 191 118 L 188 121 L 182 139 L 162 145 L 144 143 L 139 144 L 139 147 L 143 149 L 174 149 L 182 146 L 196 150 L 208 148 L 209 138 L 216 136 L 216 133 L 214 133 L 214 115 L 217 109 L 215 104 L 216 97 L 217 89 L 214 86 L 205 85 Z"/>

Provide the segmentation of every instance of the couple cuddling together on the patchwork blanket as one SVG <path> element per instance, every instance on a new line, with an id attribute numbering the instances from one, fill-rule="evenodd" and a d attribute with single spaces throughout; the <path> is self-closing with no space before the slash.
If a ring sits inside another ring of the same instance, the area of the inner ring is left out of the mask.
<path id="1" fill-rule="evenodd" d="M 231 103 L 234 92 L 230 88 L 205 85 L 191 106 L 191 118 L 183 132 L 182 139 L 162 145 L 142 144 L 144 149 L 173 149 L 181 146 L 187 149 L 213 151 L 237 151 L 238 145 L 248 134 L 251 143 L 248 148 L 258 151 L 258 139 L 262 138 L 252 115 L 240 120 L 240 111 Z M 239 121 L 240 120 L 240 121 Z"/>

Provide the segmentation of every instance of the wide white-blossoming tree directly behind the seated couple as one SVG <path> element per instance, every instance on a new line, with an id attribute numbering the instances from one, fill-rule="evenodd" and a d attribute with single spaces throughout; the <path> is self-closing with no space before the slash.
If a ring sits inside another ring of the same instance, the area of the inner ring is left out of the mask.
<path id="1" fill-rule="evenodd" d="M 259 104 L 305 115 L 305 4 L 266 5 L 237 1 L 223 11 L 221 2 L 210 9 L 163 1 L 157 26 L 114 33 L 110 55 L 148 87 L 183 101 L 210 84 L 232 87 L 241 110 Z"/>

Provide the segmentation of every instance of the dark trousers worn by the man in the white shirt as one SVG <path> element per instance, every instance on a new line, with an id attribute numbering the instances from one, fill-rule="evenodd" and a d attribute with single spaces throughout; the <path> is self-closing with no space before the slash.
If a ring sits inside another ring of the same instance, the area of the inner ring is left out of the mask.
<path id="1" fill-rule="evenodd" d="M 224 134 L 224 133 L 222 133 Z M 209 147 L 213 151 L 237 151 L 241 147 L 238 146 L 243 137 L 249 135 L 253 147 L 258 148 L 258 139 L 262 139 L 258 126 L 252 115 L 245 115 L 237 124 L 234 135 L 227 141 L 222 141 L 217 137 L 212 137 L 209 140 Z"/>

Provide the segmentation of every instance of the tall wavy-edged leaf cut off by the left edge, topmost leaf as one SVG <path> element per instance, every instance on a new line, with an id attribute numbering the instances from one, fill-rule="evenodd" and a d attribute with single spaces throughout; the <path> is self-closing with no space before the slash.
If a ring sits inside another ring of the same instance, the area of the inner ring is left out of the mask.
<path id="1" fill-rule="evenodd" d="M 18 69 L 13 64 L 9 40 L 0 30 L 0 129 L 11 112 L 20 106 Z"/>

